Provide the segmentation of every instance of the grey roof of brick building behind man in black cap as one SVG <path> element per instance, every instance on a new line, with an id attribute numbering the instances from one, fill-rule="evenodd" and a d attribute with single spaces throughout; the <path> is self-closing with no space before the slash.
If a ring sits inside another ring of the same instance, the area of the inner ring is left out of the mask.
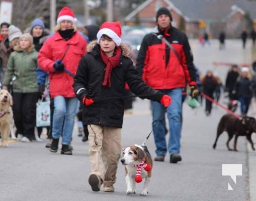
<path id="1" fill-rule="evenodd" d="M 142 9 L 149 5 L 153 0 L 146 0 L 137 9 L 131 12 L 126 21 L 131 20 Z M 182 15 L 186 21 L 199 20 L 222 20 L 226 19 L 235 12 L 243 15 L 249 13 L 252 20 L 256 20 L 256 2 L 247 0 L 162 0 L 168 5 L 168 9 L 175 10 Z"/>

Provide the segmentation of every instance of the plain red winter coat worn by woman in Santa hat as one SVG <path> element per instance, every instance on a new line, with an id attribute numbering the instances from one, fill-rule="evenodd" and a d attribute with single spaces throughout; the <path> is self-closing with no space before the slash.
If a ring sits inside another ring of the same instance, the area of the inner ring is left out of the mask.
<path id="1" fill-rule="evenodd" d="M 68 45 L 70 46 L 66 52 Z M 82 55 L 87 53 L 86 48 L 86 40 L 77 31 L 67 41 L 58 32 L 45 41 L 38 54 L 38 65 L 42 70 L 49 72 L 49 91 L 51 98 L 57 95 L 75 97 L 72 87 L 74 82 L 73 77 L 65 71 L 56 73 L 53 64 L 57 59 L 61 60 L 66 52 L 62 62 L 64 63 L 65 69 L 75 75 Z"/>

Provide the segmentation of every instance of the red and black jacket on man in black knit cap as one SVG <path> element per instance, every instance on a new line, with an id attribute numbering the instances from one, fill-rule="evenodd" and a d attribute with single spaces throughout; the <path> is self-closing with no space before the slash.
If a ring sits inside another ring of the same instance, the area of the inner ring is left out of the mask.
<path id="1" fill-rule="evenodd" d="M 137 69 L 143 80 L 154 89 L 172 89 L 196 85 L 193 55 L 185 33 L 171 27 L 161 34 L 176 49 L 176 54 L 156 35 L 147 34 L 141 43 Z"/>

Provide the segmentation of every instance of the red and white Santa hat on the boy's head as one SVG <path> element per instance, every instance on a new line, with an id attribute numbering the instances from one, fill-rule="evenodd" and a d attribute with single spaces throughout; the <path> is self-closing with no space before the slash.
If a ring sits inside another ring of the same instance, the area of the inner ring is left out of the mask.
<path id="1" fill-rule="evenodd" d="M 102 24 L 99 32 L 97 33 L 97 39 L 99 44 L 102 35 L 107 35 L 108 37 L 112 38 L 116 45 L 119 46 L 121 44 L 122 35 L 120 22 L 105 22 Z"/>

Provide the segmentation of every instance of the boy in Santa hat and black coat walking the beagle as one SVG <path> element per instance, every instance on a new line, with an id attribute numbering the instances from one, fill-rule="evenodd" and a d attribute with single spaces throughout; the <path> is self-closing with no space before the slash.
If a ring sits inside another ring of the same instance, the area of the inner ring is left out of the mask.
<path id="1" fill-rule="evenodd" d="M 131 49 L 121 44 L 120 22 L 102 24 L 97 41 L 89 44 L 74 78 L 74 91 L 85 105 L 83 124 L 89 125 L 89 154 L 92 171 L 89 184 L 93 191 L 114 192 L 121 154 L 121 128 L 124 116 L 125 82 L 137 95 L 167 107 L 170 97 L 147 86 L 128 57 Z M 148 95 L 150 94 L 150 95 Z M 107 97 L 107 99 L 98 99 Z M 100 121 L 99 121 L 100 120 Z"/>

